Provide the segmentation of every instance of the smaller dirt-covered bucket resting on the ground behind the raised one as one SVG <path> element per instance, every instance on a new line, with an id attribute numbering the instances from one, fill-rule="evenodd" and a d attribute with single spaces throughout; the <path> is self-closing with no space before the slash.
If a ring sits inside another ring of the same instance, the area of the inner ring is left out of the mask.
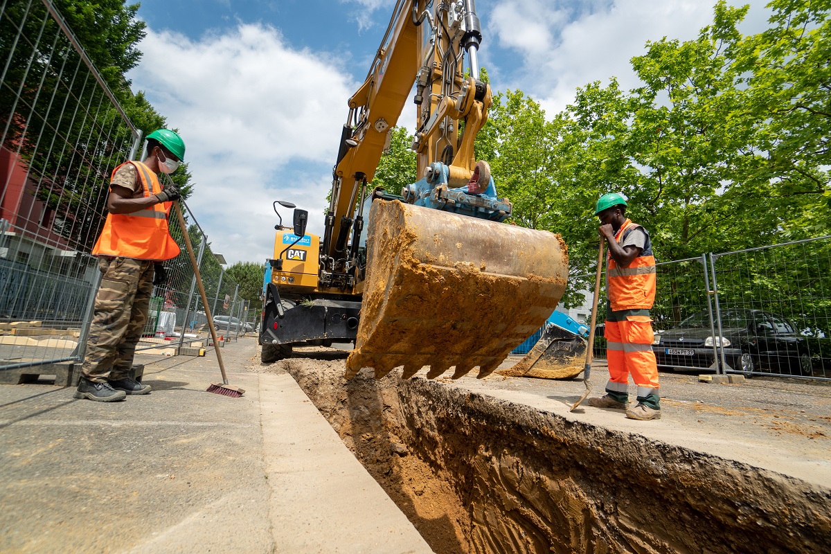
<path id="1" fill-rule="evenodd" d="M 583 371 L 586 345 L 583 337 L 549 323 L 543 336 L 522 360 L 497 373 L 506 377 L 568 379 Z"/>

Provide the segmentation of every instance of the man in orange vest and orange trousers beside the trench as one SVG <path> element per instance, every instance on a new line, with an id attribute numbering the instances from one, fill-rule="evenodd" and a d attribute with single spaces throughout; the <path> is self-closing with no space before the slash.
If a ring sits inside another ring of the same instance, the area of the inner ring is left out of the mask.
<path id="1" fill-rule="evenodd" d="M 596 408 L 625 409 L 627 418 L 660 419 L 658 366 L 652 352 L 655 302 L 655 257 L 649 233 L 626 217 L 622 194 L 603 194 L 595 215 L 608 244 L 606 256 L 606 355 L 609 382 L 606 395 L 588 400 Z M 637 405 L 629 408 L 628 380 L 637 385 Z"/>

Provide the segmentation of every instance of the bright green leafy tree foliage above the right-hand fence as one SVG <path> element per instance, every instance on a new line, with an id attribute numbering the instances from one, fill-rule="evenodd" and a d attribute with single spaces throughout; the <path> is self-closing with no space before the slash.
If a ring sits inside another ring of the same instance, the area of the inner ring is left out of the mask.
<path id="1" fill-rule="evenodd" d="M 594 203 L 611 191 L 659 261 L 829 233 L 831 2 L 770 7 L 757 35 L 721 1 L 696 39 L 647 42 L 631 91 L 589 83 L 548 117 L 522 91 L 496 95 L 476 153 L 514 223 L 561 233 L 573 275 L 593 271 Z"/>

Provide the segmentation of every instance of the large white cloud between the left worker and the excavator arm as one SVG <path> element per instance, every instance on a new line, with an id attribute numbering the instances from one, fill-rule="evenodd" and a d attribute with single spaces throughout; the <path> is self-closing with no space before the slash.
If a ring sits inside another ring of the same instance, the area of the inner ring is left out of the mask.
<path id="1" fill-rule="evenodd" d="M 293 50 L 262 25 L 199 41 L 149 30 L 140 49 L 143 60 L 129 78 L 179 128 L 194 175 L 188 203 L 214 251 L 231 263 L 271 257 L 276 199 L 308 209 L 309 232 L 322 233 L 337 140 L 356 89 L 347 72 Z M 290 221 L 290 210 L 283 212 Z"/>

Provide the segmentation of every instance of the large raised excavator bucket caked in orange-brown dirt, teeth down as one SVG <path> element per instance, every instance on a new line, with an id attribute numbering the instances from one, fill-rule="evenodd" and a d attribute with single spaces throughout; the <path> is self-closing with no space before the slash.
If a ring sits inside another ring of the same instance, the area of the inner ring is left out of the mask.
<path id="1" fill-rule="evenodd" d="M 543 326 L 566 287 L 562 238 L 398 200 L 372 203 L 366 287 L 347 378 L 425 365 L 492 373 Z"/>

